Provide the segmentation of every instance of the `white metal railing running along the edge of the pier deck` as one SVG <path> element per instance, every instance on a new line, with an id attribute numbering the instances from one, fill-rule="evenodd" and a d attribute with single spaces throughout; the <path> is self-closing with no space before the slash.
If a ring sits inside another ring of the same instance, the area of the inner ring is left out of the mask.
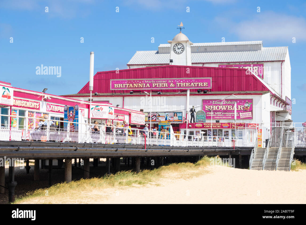
<path id="1" fill-rule="evenodd" d="M 119 144 L 144 144 L 144 135 L 146 136 L 147 145 L 170 145 L 170 146 L 199 146 L 199 147 L 232 147 L 233 144 L 239 147 L 253 147 L 257 141 L 257 129 L 269 128 L 270 126 L 285 127 L 292 133 L 290 138 L 294 138 L 294 145 L 298 147 L 306 146 L 306 124 L 305 123 L 273 123 L 262 124 L 257 123 L 256 127 L 239 127 L 237 128 L 238 137 L 225 136 L 203 136 L 203 135 L 186 135 L 183 132 L 170 133 L 116 127 L 111 125 L 111 133 L 106 133 L 105 125 L 85 124 L 80 122 L 68 122 L 60 120 L 52 120 L 54 123 L 65 126 L 50 126 L 50 119 L 43 119 L 43 128 L 37 126 L 37 120 L 40 118 L 31 118 L 23 116 L 10 116 L 0 114 L 7 118 L 23 119 L 24 124 L 14 126 L 10 124 L 2 124 L 0 128 L 0 141 L 57 141 L 57 142 L 77 142 L 77 143 L 119 143 Z M 28 120 L 32 119 L 34 123 L 28 126 Z M 9 120 L 10 121 L 10 120 Z M 74 124 L 77 129 L 70 129 L 69 123 Z M 96 131 L 91 131 L 90 127 L 94 125 Z M 268 132 L 269 133 L 269 132 Z M 270 135 L 267 134 L 267 135 Z M 234 143 L 233 143 L 234 140 Z M 264 140 L 264 137 L 263 137 Z M 269 138 L 268 148 L 271 143 Z M 266 156 L 265 156 L 266 157 Z"/>

